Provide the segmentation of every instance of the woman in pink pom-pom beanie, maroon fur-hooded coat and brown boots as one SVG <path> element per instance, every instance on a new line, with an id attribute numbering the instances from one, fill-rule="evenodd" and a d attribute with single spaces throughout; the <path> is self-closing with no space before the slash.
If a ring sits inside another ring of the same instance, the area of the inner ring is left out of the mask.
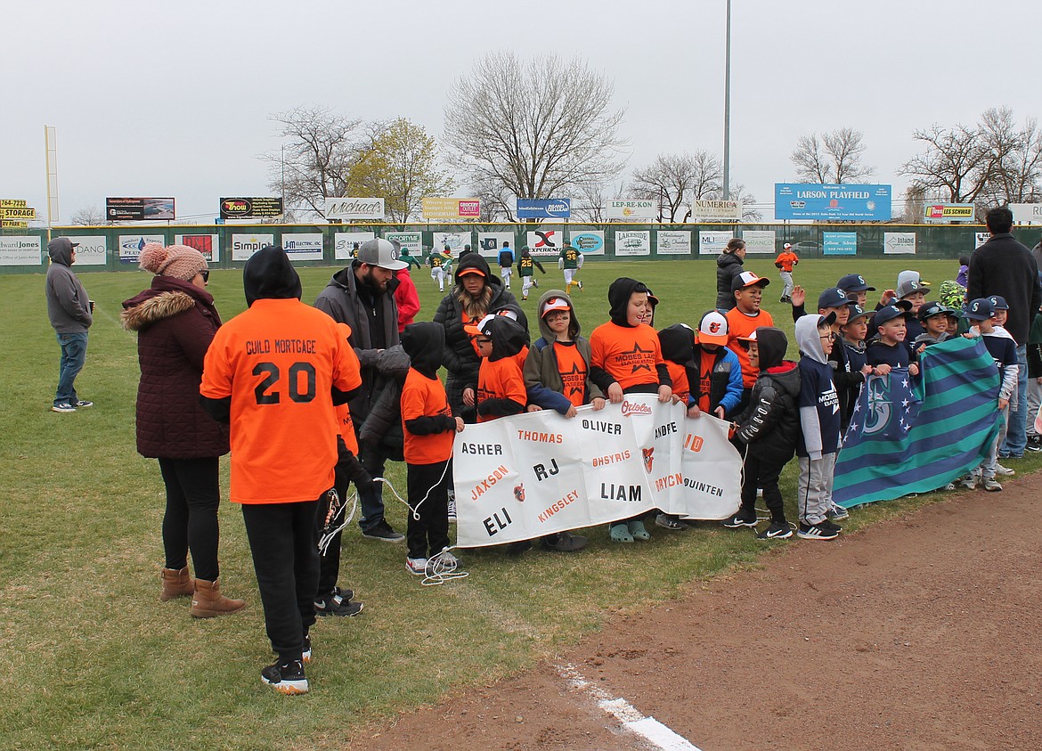
<path id="1" fill-rule="evenodd" d="M 224 597 L 218 584 L 219 460 L 229 450 L 228 428 L 199 405 L 203 357 L 221 317 L 206 292 L 209 270 L 198 250 L 150 243 L 139 266 L 155 277 L 123 303 L 120 318 L 124 328 L 138 332 L 138 453 L 159 460 L 167 486 L 159 599 L 191 596 L 192 616 L 214 618 L 246 604 Z"/>

